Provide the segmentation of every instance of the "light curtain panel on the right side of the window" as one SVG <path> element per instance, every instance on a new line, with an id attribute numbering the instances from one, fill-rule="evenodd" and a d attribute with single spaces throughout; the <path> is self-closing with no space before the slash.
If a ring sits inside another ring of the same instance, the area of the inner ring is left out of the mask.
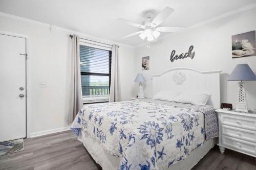
<path id="1" fill-rule="evenodd" d="M 113 45 L 111 58 L 111 81 L 109 102 L 121 101 L 118 62 L 118 45 Z"/>

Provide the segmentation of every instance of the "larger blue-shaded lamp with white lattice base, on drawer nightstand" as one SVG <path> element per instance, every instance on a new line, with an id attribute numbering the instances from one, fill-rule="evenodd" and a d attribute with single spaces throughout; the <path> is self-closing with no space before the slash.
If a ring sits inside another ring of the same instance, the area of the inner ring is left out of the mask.
<path id="1" fill-rule="evenodd" d="M 236 111 L 248 112 L 247 102 L 245 95 L 245 87 L 243 81 L 256 80 L 256 76 L 249 67 L 248 64 L 238 64 L 234 67 L 234 70 L 231 72 L 228 80 L 230 81 L 240 81 L 239 84 L 239 96 L 238 102 L 236 104 Z"/>

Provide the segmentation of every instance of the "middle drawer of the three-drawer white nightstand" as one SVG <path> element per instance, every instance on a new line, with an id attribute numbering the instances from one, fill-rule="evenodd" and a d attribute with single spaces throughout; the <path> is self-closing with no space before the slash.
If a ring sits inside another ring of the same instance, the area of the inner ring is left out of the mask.
<path id="1" fill-rule="evenodd" d="M 221 134 L 231 137 L 237 137 L 239 139 L 244 139 L 252 142 L 256 142 L 256 132 L 246 129 L 240 129 L 236 127 L 231 127 L 227 125 L 221 126 Z"/>

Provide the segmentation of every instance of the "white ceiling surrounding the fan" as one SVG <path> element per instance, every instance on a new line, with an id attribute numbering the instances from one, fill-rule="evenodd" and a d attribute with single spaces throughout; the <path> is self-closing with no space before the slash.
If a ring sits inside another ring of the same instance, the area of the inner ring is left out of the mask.
<path id="1" fill-rule="evenodd" d="M 160 26 L 190 27 L 252 3 L 255 0 L 0 0 L 0 11 L 137 46 L 144 43 L 139 36 L 121 37 L 140 29 L 117 18 L 142 23 L 145 12 L 158 14 L 168 6 L 175 11 Z"/>

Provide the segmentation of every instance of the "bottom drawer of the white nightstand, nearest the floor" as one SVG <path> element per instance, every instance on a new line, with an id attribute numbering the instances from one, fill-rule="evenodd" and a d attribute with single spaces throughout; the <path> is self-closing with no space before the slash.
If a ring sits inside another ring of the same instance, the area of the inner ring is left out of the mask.
<path id="1" fill-rule="evenodd" d="M 256 143 L 222 135 L 222 145 L 245 153 L 256 155 Z"/>

